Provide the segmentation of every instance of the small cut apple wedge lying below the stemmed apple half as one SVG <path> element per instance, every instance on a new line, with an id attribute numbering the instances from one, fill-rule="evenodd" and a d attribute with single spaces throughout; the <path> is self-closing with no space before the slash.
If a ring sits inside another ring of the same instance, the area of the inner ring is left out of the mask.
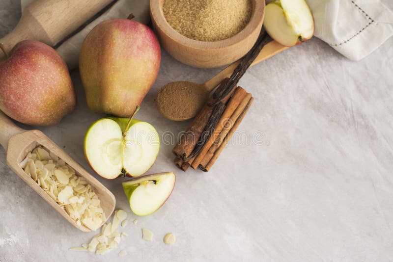
<path id="1" fill-rule="evenodd" d="M 167 201 L 175 181 L 175 174 L 167 172 L 143 176 L 123 182 L 122 185 L 131 210 L 143 216 L 152 214 Z"/>

